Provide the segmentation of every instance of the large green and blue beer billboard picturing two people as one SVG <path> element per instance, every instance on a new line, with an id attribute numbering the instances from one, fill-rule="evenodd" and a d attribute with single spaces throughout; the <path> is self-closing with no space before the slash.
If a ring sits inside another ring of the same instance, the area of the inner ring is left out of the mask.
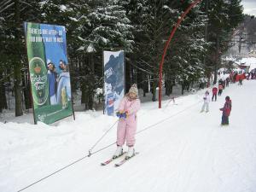
<path id="1" fill-rule="evenodd" d="M 35 124 L 73 115 L 65 27 L 25 22 L 24 30 Z"/>

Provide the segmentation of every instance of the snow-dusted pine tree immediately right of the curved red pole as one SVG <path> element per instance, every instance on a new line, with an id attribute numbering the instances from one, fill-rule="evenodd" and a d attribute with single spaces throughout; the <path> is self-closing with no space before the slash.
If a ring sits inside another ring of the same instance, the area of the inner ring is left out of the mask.
<path id="1" fill-rule="evenodd" d="M 189 2 L 183 2 L 181 11 L 187 9 Z M 177 81 L 183 90 L 204 75 L 203 55 L 206 55 L 207 42 L 204 39 L 206 16 L 201 7 L 191 9 L 177 30 L 172 43 L 170 56 L 172 82 Z M 168 70 L 170 72 L 170 70 Z M 176 73 L 172 73 L 175 71 Z M 168 73 L 167 73 L 168 74 Z M 168 94 L 167 94 L 168 95 Z"/>

